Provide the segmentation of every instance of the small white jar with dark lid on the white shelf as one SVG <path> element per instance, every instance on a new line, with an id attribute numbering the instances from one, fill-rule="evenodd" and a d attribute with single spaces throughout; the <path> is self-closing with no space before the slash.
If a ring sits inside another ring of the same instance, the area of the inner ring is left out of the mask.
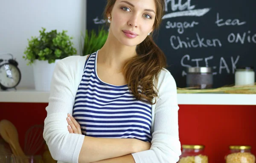
<path id="1" fill-rule="evenodd" d="M 253 67 L 238 67 L 235 73 L 235 85 L 254 85 L 255 72 Z"/>

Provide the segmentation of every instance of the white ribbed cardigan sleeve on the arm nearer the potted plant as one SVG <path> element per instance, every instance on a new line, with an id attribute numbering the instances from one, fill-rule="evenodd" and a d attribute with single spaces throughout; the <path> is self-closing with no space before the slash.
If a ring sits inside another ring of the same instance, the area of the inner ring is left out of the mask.
<path id="1" fill-rule="evenodd" d="M 57 62 L 51 81 L 47 117 L 44 120 L 44 140 L 54 160 L 78 163 L 84 135 L 70 134 L 67 130 L 67 114 L 72 115 L 76 89 L 72 75 L 72 58 Z M 69 65 L 67 68 L 66 65 Z"/>

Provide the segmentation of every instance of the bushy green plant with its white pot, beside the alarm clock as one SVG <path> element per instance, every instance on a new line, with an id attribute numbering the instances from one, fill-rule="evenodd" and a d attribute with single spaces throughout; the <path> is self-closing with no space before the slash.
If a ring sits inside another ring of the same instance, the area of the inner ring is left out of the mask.
<path id="1" fill-rule="evenodd" d="M 71 41 L 73 37 L 69 37 L 67 31 L 46 32 L 46 28 L 42 28 L 39 32 L 39 37 L 28 39 L 23 58 L 28 60 L 27 65 L 33 67 L 35 90 L 49 91 L 56 62 L 75 55 L 77 50 Z"/>

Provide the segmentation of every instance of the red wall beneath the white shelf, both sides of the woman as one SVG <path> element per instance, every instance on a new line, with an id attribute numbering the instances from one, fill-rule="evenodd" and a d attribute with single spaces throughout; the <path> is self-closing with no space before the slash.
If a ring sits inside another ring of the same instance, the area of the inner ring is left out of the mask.
<path id="1" fill-rule="evenodd" d="M 20 145 L 25 132 L 43 124 L 47 104 L 0 103 L 0 120 L 11 121 L 18 130 Z M 180 105 L 181 144 L 204 144 L 209 163 L 224 163 L 229 145 L 250 145 L 256 155 L 256 106 Z"/>

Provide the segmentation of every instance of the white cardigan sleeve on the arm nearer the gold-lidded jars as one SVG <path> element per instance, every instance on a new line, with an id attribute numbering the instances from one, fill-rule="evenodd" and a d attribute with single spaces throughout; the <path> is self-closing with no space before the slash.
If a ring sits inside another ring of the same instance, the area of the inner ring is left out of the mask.
<path id="1" fill-rule="evenodd" d="M 164 69 L 158 76 L 159 98 L 155 104 L 155 122 L 151 148 L 133 153 L 136 163 L 176 163 L 181 155 L 178 132 L 177 87 L 171 73 Z"/>

